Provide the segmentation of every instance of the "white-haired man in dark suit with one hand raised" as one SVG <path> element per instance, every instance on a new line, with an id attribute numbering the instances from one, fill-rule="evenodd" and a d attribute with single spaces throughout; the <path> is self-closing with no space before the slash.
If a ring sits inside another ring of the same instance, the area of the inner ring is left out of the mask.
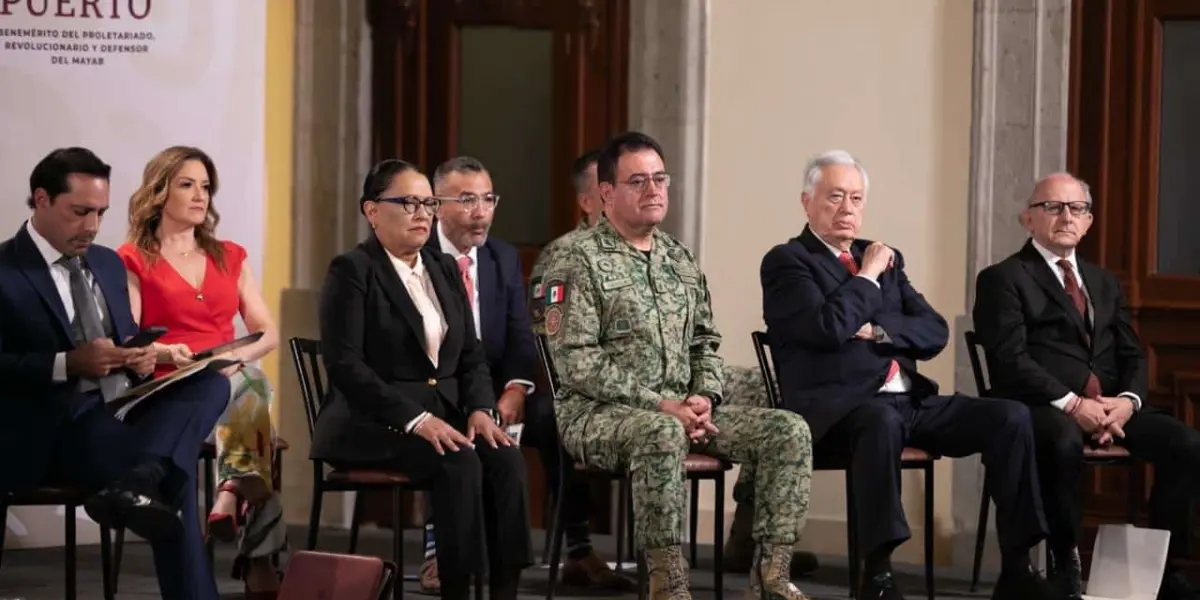
<path id="1" fill-rule="evenodd" d="M 1028 559 L 1045 536 L 1028 410 L 937 394 L 917 361 L 946 347 L 946 320 L 908 283 L 899 252 L 857 239 L 865 169 L 832 151 L 809 162 L 804 178 L 809 224 L 763 258 L 763 316 L 785 407 L 809 422 L 815 456 L 848 455 L 854 485 L 870 491 L 851 508 L 866 551 L 858 598 L 902 598 L 890 554 L 910 536 L 900 500 L 906 445 L 983 455 L 1003 552 L 994 598 L 1055 598 Z"/>

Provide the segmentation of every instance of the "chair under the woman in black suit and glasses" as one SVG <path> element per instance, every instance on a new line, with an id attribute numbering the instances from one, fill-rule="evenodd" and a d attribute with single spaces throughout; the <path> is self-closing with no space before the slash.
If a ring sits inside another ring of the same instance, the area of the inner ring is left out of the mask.
<path id="1" fill-rule="evenodd" d="M 326 388 L 322 378 L 320 342 L 293 337 L 288 341 L 292 349 L 292 361 L 300 379 L 300 394 L 304 397 L 305 415 L 308 420 L 308 436 L 312 438 L 320 413 L 320 402 Z M 390 491 L 392 494 L 392 562 L 397 569 L 404 564 L 404 511 L 401 502 L 404 492 L 424 492 L 430 490 L 430 482 L 414 481 L 408 475 L 386 469 L 332 469 L 325 473 L 323 461 L 312 460 L 312 511 L 308 515 L 307 550 L 317 548 L 317 534 L 320 532 L 320 503 L 325 492 L 358 492 L 354 498 L 354 515 L 350 520 L 350 547 L 353 554 L 359 545 L 359 521 L 362 510 L 362 493 L 370 491 Z M 416 581 L 415 576 L 404 576 L 403 581 Z M 403 582 L 392 588 L 392 598 L 404 596 Z M 484 598 L 484 574 L 475 575 L 475 599 Z"/>

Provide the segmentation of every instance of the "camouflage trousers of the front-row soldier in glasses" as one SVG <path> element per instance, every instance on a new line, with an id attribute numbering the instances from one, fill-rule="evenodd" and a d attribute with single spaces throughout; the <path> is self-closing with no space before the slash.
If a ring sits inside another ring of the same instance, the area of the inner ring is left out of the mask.
<path id="1" fill-rule="evenodd" d="M 628 469 L 634 494 L 634 536 L 646 550 L 683 540 L 686 505 L 684 458 L 689 451 L 751 466 L 755 523 L 752 536 L 769 544 L 796 544 L 809 509 L 812 445 L 799 415 L 758 407 L 721 406 L 713 413 L 720 430 L 704 445 L 690 445 L 683 425 L 665 413 L 587 401 L 554 406 L 563 445 L 586 464 Z"/>

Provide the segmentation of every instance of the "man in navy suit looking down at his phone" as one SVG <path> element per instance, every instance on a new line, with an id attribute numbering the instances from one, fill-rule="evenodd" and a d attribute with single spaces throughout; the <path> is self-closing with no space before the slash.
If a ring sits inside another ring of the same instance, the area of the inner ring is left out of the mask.
<path id="1" fill-rule="evenodd" d="M 137 334 L 125 268 L 92 245 L 109 172 L 83 148 L 50 152 L 29 178 L 32 217 L 0 244 L 0 494 L 40 485 L 100 490 L 84 509 L 102 527 L 150 541 L 163 598 L 216 600 L 196 464 L 229 382 L 202 372 L 124 420 L 106 408 L 155 366 L 149 347 L 119 346 Z"/>

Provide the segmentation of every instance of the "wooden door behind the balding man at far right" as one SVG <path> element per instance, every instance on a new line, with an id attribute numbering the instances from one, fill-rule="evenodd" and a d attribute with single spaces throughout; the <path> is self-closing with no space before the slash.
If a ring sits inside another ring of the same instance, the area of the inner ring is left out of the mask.
<path id="1" fill-rule="evenodd" d="M 1200 2 L 1087 0 L 1072 11 L 1068 164 L 1096 204 L 1080 250 L 1126 290 L 1150 361 L 1145 400 L 1196 427 Z M 1129 485 L 1122 469 L 1088 470 L 1081 550 L 1097 524 L 1124 521 Z M 1148 485 L 1141 524 L 1147 496 Z"/>

